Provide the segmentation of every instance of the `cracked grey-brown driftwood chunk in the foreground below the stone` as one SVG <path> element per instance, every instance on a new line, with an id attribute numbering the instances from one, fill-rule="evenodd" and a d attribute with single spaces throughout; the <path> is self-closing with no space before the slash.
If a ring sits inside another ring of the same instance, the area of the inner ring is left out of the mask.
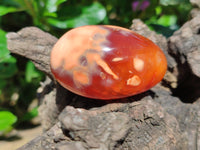
<path id="1" fill-rule="evenodd" d="M 175 117 L 151 97 L 118 105 L 112 111 L 105 107 L 99 112 L 98 108 L 67 106 L 58 124 L 20 149 L 186 149 Z"/>

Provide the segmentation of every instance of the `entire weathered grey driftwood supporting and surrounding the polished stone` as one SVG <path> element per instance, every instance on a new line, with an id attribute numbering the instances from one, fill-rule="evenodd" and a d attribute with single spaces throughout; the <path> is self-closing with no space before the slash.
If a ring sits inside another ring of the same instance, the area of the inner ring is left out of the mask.
<path id="1" fill-rule="evenodd" d="M 162 84 L 150 91 L 113 101 L 75 95 L 51 80 L 55 37 L 35 27 L 9 33 L 10 51 L 29 58 L 51 78 L 38 93 L 44 133 L 19 150 L 200 149 L 199 11 L 192 16 L 169 39 L 133 20 L 132 30 L 163 49 L 169 69 Z"/>

